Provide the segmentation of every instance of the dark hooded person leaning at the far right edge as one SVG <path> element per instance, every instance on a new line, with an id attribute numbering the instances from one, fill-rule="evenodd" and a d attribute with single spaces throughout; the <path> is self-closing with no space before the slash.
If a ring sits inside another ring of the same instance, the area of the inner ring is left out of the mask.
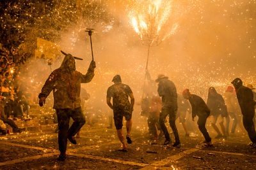
<path id="1" fill-rule="evenodd" d="M 248 87 L 243 86 L 243 81 L 240 78 L 236 78 L 231 83 L 236 89 L 238 103 L 243 115 L 244 129 L 248 132 L 248 136 L 252 141 L 250 146 L 256 147 L 256 132 L 253 124 L 253 117 L 255 115 L 253 92 Z"/>

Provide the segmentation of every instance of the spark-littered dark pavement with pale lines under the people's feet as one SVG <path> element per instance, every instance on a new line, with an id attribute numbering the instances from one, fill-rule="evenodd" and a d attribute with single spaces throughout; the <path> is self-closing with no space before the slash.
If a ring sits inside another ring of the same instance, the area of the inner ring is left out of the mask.
<path id="1" fill-rule="evenodd" d="M 214 136 L 210 132 L 211 136 Z M 172 136 L 173 138 L 173 136 Z M 0 169 L 255 169 L 256 149 L 250 148 L 246 134 L 213 139 L 204 148 L 201 134 L 184 137 L 181 148 L 152 141 L 147 132 L 132 129 L 128 152 L 119 152 L 115 129 L 86 127 L 77 145 L 68 142 L 67 160 L 59 162 L 58 138 L 54 132 L 33 132 L 0 136 Z"/>

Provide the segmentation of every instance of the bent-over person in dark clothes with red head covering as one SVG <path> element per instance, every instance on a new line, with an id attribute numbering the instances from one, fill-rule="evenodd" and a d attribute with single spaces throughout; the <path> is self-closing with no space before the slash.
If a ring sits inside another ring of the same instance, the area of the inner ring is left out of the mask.
<path id="1" fill-rule="evenodd" d="M 207 132 L 207 129 L 205 128 L 205 123 L 207 120 L 207 117 L 210 115 L 210 110 L 205 104 L 204 100 L 196 96 L 195 94 L 190 94 L 189 89 L 185 89 L 182 92 L 182 95 L 185 99 L 189 100 L 189 103 L 191 104 L 192 108 L 192 120 L 195 121 L 196 115 L 198 116 L 198 128 L 204 135 L 205 141 L 204 145 L 205 146 L 212 146 L 211 138 Z"/>

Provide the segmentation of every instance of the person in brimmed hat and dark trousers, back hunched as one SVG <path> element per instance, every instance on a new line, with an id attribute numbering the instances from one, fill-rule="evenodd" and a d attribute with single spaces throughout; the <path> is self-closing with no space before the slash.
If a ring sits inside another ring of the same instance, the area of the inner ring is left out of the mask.
<path id="1" fill-rule="evenodd" d="M 156 82 L 158 83 L 157 92 L 159 96 L 162 97 L 162 108 L 159 115 L 159 124 L 165 137 L 164 145 L 171 143 L 170 135 L 166 126 L 164 125 L 164 120 L 169 115 L 170 127 L 172 127 L 172 131 L 175 136 L 175 143 L 173 143 L 173 146 L 180 148 L 179 133 L 175 125 L 178 109 L 176 87 L 173 81 L 168 80 L 168 77 L 164 76 L 164 74 L 159 74 Z"/>

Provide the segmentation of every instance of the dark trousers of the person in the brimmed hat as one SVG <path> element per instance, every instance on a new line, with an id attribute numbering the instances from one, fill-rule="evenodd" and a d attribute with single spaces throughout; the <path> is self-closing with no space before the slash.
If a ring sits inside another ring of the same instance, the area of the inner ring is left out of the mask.
<path id="1" fill-rule="evenodd" d="M 177 108 L 170 107 L 170 106 L 169 107 L 163 106 L 161 113 L 159 115 L 159 124 L 161 129 L 164 132 L 165 139 L 170 141 L 171 140 L 170 135 L 167 131 L 166 126 L 164 125 L 164 120 L 169 115 L 169 123 L 170 123 L 170 127 L 172 127 L 172 131 L 175 136 L 175 141 L 180 142 L 178 129 L 175 125 L 176 114 L 177 114 Z"/>

